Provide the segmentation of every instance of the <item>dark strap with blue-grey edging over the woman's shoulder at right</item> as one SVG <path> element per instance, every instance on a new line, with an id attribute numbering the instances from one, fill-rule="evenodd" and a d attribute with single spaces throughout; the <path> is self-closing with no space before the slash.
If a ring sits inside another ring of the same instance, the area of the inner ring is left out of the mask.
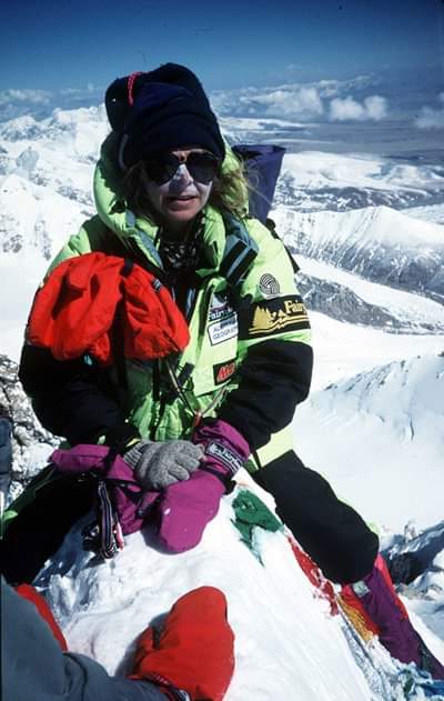
<path id="1" fill-rule="evenodd" d="M 225 278 L 229 288 L 235 290 L 243 282 L 251 263 L 256 258 L 259 247 L 239 219 L 225 212 L 223 221 L 226 236 L 220 272 Z"/>

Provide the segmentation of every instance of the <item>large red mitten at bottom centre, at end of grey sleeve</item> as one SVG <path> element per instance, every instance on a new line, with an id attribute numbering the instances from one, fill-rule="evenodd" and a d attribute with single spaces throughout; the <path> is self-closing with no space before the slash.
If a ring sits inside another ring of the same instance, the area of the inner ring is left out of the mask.
<path id="1" fill-rule="evenodd" d="M 132 679 L 169 683 L 192 701 L 223 699 L 234 671 L 234 634 L 219 589 L 201 587 L 181 597 L 154 640 L 151 628 L 140 637 Z"/>

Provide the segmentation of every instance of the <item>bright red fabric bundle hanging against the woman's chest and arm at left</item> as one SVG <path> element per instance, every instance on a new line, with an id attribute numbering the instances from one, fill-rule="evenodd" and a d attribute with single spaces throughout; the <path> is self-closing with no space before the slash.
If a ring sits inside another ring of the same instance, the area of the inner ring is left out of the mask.
<path id="1" fill-rule="evenodd" d="M 85 253 L 54 268 L 38 291 L 28 321 L 30 343 L 57 360 L 84 353 L 113 362 L 112 326 L 120 313 L 125 358 L 152 360 L 181 351 L 190 340 L 186 321 L 153 274 L 105 253 Z"/>

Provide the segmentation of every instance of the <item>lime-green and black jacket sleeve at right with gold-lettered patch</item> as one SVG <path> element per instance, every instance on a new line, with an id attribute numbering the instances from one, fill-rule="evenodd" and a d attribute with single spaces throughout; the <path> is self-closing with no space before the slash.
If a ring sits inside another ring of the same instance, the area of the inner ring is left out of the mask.
<path id="1" fill-rule="evenodd" d="M 291 422 L 296 404 L 307 397 L 313 351 L 289 253 L 255 220 L 250 233 L 259 254 L 236 302 L 239 385 L 226 395 L 218 417 L 238 429 L 254 451 Z"/>

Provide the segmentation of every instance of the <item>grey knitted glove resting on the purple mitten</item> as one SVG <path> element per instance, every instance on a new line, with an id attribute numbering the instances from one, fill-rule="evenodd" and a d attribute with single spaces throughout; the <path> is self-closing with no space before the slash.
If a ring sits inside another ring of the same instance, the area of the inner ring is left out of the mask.
<path id="1" fill-rule="evenodd" d="M 123 455 L 142 487 L 154 490 L 188 480 L 199 468 L 202 458 L 202 445 L 181 440 L 141 440 Z"/>

